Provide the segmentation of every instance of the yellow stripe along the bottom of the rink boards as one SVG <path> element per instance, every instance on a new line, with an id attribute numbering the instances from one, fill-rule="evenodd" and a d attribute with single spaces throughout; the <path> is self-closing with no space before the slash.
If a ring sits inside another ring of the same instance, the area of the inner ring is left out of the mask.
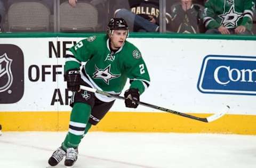
<path id="1" fill-rule="evenodd" d="M 207 117 L 210 114 L 195 114 Z M 67 131 L 70 112 L 0 112 L 3 131 Z M 256 135 L 256 115 L 224 115 L 204 123 L 169 113 L 109 112 L 91 131 Z"/>

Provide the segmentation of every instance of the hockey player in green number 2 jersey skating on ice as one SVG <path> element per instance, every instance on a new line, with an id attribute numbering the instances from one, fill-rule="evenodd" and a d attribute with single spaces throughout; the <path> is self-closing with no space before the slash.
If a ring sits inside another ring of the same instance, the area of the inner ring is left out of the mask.
<path id="1" fill-rule="evenodd" d="M 65 140 L 49 159 L 57 165 L 66 156 L 65 165 L 72 166 L 78 155 L 81 138 L 96 125 L 113 106 L 115 98 L 81 90 L 84 85 L 119 95 L 127 78 L 130 89 L 126 90 L 125 106 L 137 108 L 134 100 L 149 86 L 149 74 L 137 47 L 126 41 L 127 24 L 122 18 L 113 18 L 107 26 L 107 36 L 92 36 L 79 41 L 67 52 L 65 79 L 73 91 L 70 106 L 69 130 Z M 82 62 L 87 62 L 79 71 Z"/>

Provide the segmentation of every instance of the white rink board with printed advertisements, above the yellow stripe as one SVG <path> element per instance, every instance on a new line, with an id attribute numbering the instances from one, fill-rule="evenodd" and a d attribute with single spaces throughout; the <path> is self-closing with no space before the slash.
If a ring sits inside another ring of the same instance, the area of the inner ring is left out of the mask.
<path id="1" fill-rule="evenodd" d="M 65 55 L 81 39 L 0 38 L 0 113 L 70 112 Z M 127 40 L 140 49 L 150 74 L 142 102 L 197 114 L 217 113 L 229 105 L 229 114 L 256 115 L 255 40 Z M 122 100 L 110 111 L 162 113 L 144 106 L 126 108 Z"/>

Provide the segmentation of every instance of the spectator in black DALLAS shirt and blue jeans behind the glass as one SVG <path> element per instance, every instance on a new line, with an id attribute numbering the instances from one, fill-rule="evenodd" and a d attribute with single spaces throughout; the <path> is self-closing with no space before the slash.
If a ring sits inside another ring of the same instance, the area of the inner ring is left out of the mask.
<path id="1" fill-rule="evenodd" d="M 123 5 L 125 1 L 129 1 L 129 7 Z M 115 1 L 116 18 L 124 18 L 133 31 L 159 32 L 159 0 L 125 1 Z M 166 13 L 166 24 L 169 24 L 169 20 L 170 14 Z"/>

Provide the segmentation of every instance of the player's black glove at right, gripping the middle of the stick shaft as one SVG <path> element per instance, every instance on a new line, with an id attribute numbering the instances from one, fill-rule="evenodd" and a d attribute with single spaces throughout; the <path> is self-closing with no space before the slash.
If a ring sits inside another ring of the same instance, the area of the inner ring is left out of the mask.
<path id="1" fill-rule="evenodd" d="M 130 88 L 125 91 L 124 93 L 125 97 L 125 106 L 129 108 L 137 108 L 138 103 L 135 103 L 134 100 L 139 101 L 140 100 L 140 94 L 138 89 Z"/>

